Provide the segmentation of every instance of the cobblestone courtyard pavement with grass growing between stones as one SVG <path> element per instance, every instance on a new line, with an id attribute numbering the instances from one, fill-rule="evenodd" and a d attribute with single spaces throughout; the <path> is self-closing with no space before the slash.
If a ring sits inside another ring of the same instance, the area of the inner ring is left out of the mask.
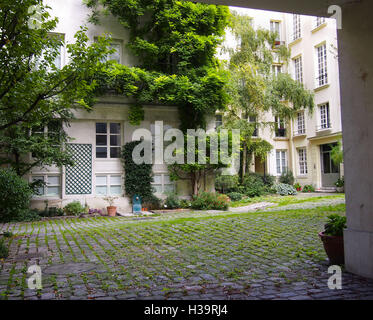
<path id="1" fill-rule="evenodd" d="M 373 299 L 373 281 L 347 272 L 328 288 L 317 234 L 344 208 L 312 207 L 3 224 L 0 299 Z M 34 264 L 41 290 L 27 288 Z"/>

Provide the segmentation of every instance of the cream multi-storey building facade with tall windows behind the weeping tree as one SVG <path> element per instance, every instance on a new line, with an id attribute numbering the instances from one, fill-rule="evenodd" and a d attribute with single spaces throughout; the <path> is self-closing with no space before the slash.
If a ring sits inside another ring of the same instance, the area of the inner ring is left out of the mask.
<path id="1" fill-rule="evenodd" d="M 330 154 L 342 139 L 336 21 L 254 9 L 233 10 L 251 17 L 254 28 L 279 33 L 278 44 L 288 46 L 291 58 L 274 63 L 273 72 L 291 74 L 315 96 L 314 112 L 302 111 L 290 122 L 271 113 L 259 115 L 259 123 L 276 122 L 277 130 L 257 129 L 256 137 L 271 143 L 273 150 L 264 163 L 253 158 L 251 171 L 279 177 L 290 169 L 302 186 L 334 188 L 343 176 L 343 165 L 335 166 Z"/>

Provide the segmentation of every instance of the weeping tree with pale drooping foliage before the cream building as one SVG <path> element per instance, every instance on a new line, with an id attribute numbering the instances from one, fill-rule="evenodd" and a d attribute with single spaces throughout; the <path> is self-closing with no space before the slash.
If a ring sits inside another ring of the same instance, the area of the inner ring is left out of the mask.
<path id="1" fill-rule="evenodd" d="M 302 109 L 314 108 L 313 94 L 288 74 L 274 75 L 272 66 L 290 58 L 287 47 L 278 45 L 278 34 L 265 29 L 254 29 L 250 17 L 231 15 L 230 31 L 238 45 L 225 47 L 229 53 L 226 69 L 230 73 L 231 103 L 225 113 L 225 127 L 241 130 L 241 177 L 250 165 L 251 155 L 265 160 L 272 145 L 263 139 L 253 139 L 262 126 L 275 130 L 275 122 L 261 121 L 266 112 L 284 119 L 292 119 Z"/>

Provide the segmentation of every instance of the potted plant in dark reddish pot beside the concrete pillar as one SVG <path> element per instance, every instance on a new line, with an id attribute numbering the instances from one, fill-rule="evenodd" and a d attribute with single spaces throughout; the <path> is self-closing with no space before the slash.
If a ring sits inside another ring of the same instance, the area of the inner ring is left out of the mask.
<path id="1" fill-rule="evenodd" d="M 338 214 L 328 216 L 324 232 L 319 236 L 328 255 L 330 264 L 344 264 L 343 229 L 346 228 L 346 217 Z"/>

